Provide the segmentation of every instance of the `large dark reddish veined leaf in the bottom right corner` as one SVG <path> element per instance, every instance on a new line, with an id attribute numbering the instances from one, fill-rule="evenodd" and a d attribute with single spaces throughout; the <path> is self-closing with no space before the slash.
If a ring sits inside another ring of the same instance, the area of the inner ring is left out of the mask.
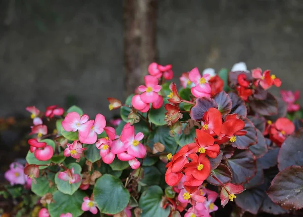
<path id="1" fill-rule="evenodd" d="M 303 166 L 290 166 L 279 172 L 267 191 L 271 200 L 285 209 L 303 208 Z"/>

